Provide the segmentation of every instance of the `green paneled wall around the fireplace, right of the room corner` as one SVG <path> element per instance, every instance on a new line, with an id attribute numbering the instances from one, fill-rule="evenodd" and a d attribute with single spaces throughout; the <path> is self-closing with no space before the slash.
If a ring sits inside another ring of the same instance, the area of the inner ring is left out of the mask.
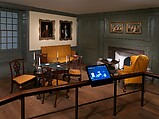
<path id="1" fill-rule="evenodd" d="M 122 11 L 79 16 L 79 47 L 83 62 L 95 64 L 98 57 L 108 57 L 108 47 L 143 50 L 150 58 L 149 67 L 159 73 L 159 9 Z M 123 22 L 121 34 L 110 33 L 110 22 Z M 141 34 L 127 34 L 127 22 L 141 22 Z"/>

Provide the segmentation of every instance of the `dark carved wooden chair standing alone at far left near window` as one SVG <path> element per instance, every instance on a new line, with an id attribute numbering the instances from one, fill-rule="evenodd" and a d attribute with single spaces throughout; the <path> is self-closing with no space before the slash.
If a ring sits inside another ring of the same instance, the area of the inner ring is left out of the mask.
<path id="1" fill-rule="evenodd" d="M 23 88 L 23 85 L 36 81 L 36 77 L 34 75 L 25 74 L 24 71 L 24 59 L 13 59 L 9 61 L 10 72 L 11 72 L 11 91 L 13 91 L 14 84 L 19 86 L 19 90 Z"/>

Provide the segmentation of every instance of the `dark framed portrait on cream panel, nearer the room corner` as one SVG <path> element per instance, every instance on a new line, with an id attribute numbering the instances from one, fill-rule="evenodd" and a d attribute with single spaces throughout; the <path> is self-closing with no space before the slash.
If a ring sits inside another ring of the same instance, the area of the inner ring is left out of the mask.
<path id="1" fill-rule="evenodd" d="M 60 40 L 72 40 L 72 21 L 60 20 Z"/>

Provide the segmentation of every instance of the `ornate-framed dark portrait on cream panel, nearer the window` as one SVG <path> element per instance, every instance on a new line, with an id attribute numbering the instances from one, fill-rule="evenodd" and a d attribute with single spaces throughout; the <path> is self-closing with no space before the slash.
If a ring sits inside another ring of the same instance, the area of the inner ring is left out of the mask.
<path id="1" fill-rule="evenodd" d="M 39 40 L 55 39 L 55 21 L 39 19 Z"/>

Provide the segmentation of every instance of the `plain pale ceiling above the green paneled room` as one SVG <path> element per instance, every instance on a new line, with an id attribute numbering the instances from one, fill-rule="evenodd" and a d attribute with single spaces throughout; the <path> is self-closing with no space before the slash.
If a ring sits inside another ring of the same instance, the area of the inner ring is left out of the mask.
<path id="1" fill-rule="evenodd" d="M 159 7 L 159 0 L 0 0 L 72 14 L 88 14 Z"/>

